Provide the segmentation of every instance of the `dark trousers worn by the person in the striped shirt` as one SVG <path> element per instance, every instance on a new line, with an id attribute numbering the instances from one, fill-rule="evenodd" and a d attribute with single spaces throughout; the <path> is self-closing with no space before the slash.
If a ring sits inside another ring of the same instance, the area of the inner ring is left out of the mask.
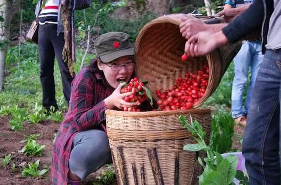
<path id="1" fill-rule="evenodd" d="M 40 82 L 43 93 L 42 105 L 46 109 L 50 109 L 52 105 L 55 108 L 58 108 L 54 80 L 55 56 L 60 69 L 63 95 L 67 106 L 69 105 L 73 77 L 68 71 L 67 63 L 62 60 L 63 46 L 64 34 L 60 33 L 57 35 L 57 24 L 46 23 L 44 25 L 39 25 L 38 47 L 40 61 Z"/>

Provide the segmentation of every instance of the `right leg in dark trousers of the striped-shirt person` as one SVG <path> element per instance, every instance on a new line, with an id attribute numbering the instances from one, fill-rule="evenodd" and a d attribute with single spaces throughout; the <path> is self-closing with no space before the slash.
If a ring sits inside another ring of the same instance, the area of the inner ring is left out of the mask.
<path id="1" fill-rule="evenodd" d="M 63 95 L 67 104 L 67 107 L 69 106 L 69 99 L 71 96 L 71 83 L 73 81 L 73 78 L 71 74 L 69 73 L 67 63 L 63 61 L 62 59 L 62 49 L 64 46 L 64 34 L 59 33 L 57 35 L 57 25 L 50 24 L 50 27 L 52 27 L 52 43 L 55 49 L 56 58 L 58 61 L 58 66 L 60 69 L 60 75 L 61 75 L 61 81 L 62 81 L 62 89 L 63 89 Z"/>

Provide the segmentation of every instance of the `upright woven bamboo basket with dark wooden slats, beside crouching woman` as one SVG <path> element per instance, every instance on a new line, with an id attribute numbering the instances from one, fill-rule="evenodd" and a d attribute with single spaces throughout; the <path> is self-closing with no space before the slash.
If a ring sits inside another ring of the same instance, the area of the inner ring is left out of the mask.
<path id="1" fill-rule="evenodd" d="M 118 184 L 197 184 L 204 152 L 183 150 L 195 144 L 179 115 L 190 115 L 210 135 L 210 110 L 123 112 L 106 110 L 107 135 Z"/>

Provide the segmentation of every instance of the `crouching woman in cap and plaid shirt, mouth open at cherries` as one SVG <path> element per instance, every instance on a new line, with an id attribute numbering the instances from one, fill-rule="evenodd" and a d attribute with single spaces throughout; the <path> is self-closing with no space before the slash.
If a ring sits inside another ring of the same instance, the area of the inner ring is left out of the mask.
<path id="1" fill-rule="evenodd" d="M 121 81 L 134 77 L 134 48 L 122 32 L 103 34 L 95 41 L 97 59 L 72 83 L 66 119 L 54 145 L 53 184 L 79 184 L 88 174 L 111 161 L 105 110 L 136 106 L 121 94 Z M 152 108 L 151 108 L 152 109 Z"/>

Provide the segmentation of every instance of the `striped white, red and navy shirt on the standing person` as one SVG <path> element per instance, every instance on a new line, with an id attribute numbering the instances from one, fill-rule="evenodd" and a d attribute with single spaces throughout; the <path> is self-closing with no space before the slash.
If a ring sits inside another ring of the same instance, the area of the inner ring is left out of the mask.
<path id="1" fill-rule="evenodd" d="M 39 24 L 58 23 L 59 0 L 47 0 L 45 6 L 38 15 Z"/>

